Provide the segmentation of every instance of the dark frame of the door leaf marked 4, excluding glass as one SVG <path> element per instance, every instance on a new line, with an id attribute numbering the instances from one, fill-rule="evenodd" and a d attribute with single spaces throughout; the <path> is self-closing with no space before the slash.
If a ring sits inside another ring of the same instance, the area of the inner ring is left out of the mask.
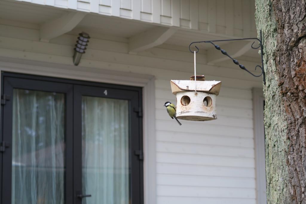
<path id="1" fill-rule="evenodd" d="M 92 97 L 103 97 L 103 98 L 113 98 L 113 99 L 121 99 L 121 100 L 129 100 L 129 147 L 130 147 L 130 157 L 129 163 L 131 167 L 131 200 L 132 203 L 140 203 L 139 190 L 140 185 L 137 178 L 140 175 L 140 162 L 138 157 L 135 157 L 133 154 L 135 151 L 139 150 L 139 132 L 138 129 L 132 127 L 139 127 L 139 118 L 136 114 L 133 114 L 133 109 L 139 107 L 138 103 L 138 93 L 135 91 L 125 90 L 122 91 L 120 89 L 115 88 L 104 88 L 104 87 L 92 87 L 92 86 L 84 86 L 84 85 L 75 85 L 73 88 L 73 109 L 74 109 L 74 124 L 73 124 L 73 132 L 74 132 L 74 149 L 78 150 L 82 148 L 82 96 L 92 96 Z M 107 91 L 107 95 L 104 93 Z M 82 180 L 78 179 L 82 177 L 82 152 L 75 151 L 74 152 L 74 186 L 76 187 L 76 191 L 81 192 L 82 190 Z M 136 189 L 139 189 L 135 191 Z M 83 192 L 85 193 L 85 192 Z M 90 194 L 90 192 L 86 192 L 86 194 Z M 84 198 L 86 199 L 86 198 Z M 76 198 L 75 204 L 81 204 L 81 199 Z"/>

